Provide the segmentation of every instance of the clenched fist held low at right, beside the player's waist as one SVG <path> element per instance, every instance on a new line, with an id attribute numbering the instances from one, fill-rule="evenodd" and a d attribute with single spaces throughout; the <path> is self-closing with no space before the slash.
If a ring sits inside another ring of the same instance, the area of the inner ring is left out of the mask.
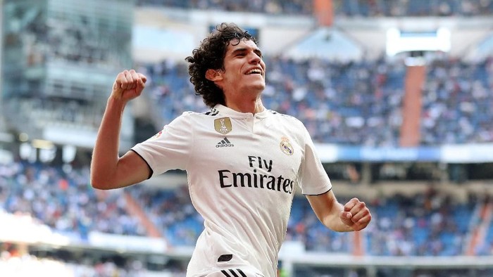
<path id="1" fill-rule="evenodd" d="M 358 198 L 349 200 L 344 205 L 344 210 L 339 217 L 353 231 L 363 230 L 371 221 L 370 210 L 366 207 L 365 202 L 361 202 Z"/>

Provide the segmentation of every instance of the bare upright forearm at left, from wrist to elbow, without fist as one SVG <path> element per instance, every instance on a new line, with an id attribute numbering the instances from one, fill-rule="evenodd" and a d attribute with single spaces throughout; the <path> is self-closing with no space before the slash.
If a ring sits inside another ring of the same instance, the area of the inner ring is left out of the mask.
<path id="1" fill-rule="evenodd" d="M 120 129 L 125 101 L 108 98 L 106 110 L 96 136 L 92 153 L 91 183 L 106 186 L 116 172 L 119 159 Z"/>

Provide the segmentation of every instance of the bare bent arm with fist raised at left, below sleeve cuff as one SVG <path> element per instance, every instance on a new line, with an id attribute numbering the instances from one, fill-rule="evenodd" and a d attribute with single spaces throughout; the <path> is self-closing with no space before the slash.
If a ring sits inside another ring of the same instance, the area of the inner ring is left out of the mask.
<path id="1" fill-rule="evenodd" d="M 94 188 L 121 188 L 149 177 L 151 170 L 142 157 L 133 151 L 123 157 L 118 155 L 123 110 L 128 101 L 142 94 L 145 83 L 146 77 L 135 70 L 120 72 L 113 83 L 92 153 L 91 185 Z"/>

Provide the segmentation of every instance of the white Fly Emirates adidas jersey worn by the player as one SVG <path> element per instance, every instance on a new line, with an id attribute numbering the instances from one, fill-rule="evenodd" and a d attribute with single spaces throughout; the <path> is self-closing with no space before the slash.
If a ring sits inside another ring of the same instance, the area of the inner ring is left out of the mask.
<path id="1" fill-rule="evenodd" d="M 187 171 L 205 227 L 187 276 L 244 269 L 275 277 L 294 189 L 318 195 L 332 188 L 304 125 L 272 110 L 185 112 L 132 150 L 153 174 Z"/>

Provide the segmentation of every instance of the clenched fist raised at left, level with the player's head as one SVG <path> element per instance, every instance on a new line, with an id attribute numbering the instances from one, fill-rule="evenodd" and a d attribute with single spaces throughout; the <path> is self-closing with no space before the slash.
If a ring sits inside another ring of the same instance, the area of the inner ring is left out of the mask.
<path id="1" fill-rule="evenodd" d="M 137 98 L 142 94 L 146 81 L 147 78 L 142 73 L 137 73 L 135 70 L 123 70 L 116 76 L 111 97 L 125 102 Z"/>

